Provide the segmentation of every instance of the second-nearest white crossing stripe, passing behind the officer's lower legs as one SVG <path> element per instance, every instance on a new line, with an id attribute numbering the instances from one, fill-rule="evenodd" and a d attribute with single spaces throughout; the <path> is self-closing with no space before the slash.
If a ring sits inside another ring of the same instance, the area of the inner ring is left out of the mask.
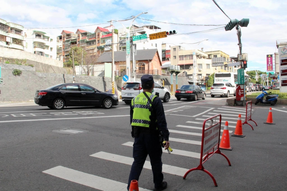
<path id="1" fill-rule="evenodd" d="M 173 151 L 172 151 L 173 152 Z M 133 164 L 133 158 L 131 157 L 125 157 L 121 155 L 115 155 L 111 153 L 106 153 L 106 152 L 98 152 L 95 154 L 90 155 L 91 157 L 97 157 L 100 159 L 105 159 L 113 162 L 118 162 L 122 164 L 127 164 L 127 165 L 132 165 Z M 146 161 L 144 163 L 144 168 L 146 169 L 152 169 L 152 165 L 150 164 L 150 161 Z M 162 172 L 168 173 L 168 174 L 173 174 L 177 176 L 183 176 L 189 169 L 181 168 L 181 167 L 176 167 L 176 166 L 171 166 L 171 165 L 166 165 L 162 164 Z"/>

